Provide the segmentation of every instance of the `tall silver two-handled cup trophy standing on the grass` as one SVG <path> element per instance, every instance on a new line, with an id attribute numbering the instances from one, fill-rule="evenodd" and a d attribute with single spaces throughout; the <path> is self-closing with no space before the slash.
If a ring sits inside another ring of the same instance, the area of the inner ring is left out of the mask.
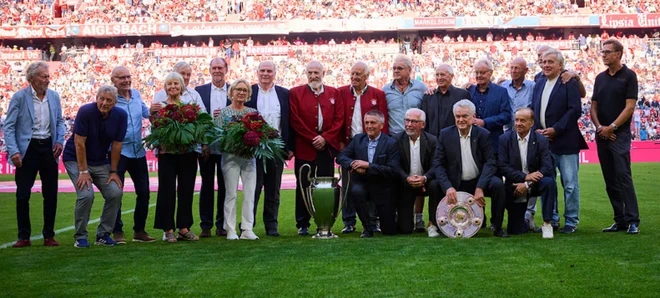
<path id="1" fill-rule="evenodd" d="M 303 169 L 307 168 L 307 180 L 309 187 L 303 187 L 302 179 Z M 340 178 L 336 177 L 311 177 L 312 167 L 309 164 L 303 165 L 298 173 L 300 181 L 300 189 L 302 190 L 303 201 L 307 207 L 307 211 L 314 218 L 317 231 L 316 235 L 312 238 L 315 239 L 332 239 L 337 238 L 337 235 L 332 233 L 332 225 L 341 211 L 344 202 L 345 194 L 342 194 L 341 187 L 339 186 Z M 350 175 L 346 181 L 346 190 L 349 188 Z"/>

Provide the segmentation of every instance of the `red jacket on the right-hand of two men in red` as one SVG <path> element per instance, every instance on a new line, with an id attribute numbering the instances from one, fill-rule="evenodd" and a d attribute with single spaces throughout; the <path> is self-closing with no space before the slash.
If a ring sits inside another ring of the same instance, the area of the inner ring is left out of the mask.
<path id="1" fill-rule="evenodd" d="M 342 140 L 344 145 L 348 146 L 348 141 L 351 138 L 351 124 L 353 123 L 353 111 L 355 107 L 356 97 L 351 90 L 351 86 L 339 87 L 339 93 L 341 93 L 342 98 L 344 98 L 344 131 L 342 135 Z M 388 134 L 389 130 L 387 129 L 388 116 L 387 116 L 387 100 L 385 99 L 385 92 L 374 86 L 367 86 L 367 91 L 360 96 L 360 111 L 362 112 L 362 122 L 364 123 L 364 114 L 370 110 L 379 110 L 383 115 L 385 115 L 385 124 L 383 125 L 382 132 Z M 366 133 L 364 130 L 364 124 L 362 126 L 362 132 Z"/>

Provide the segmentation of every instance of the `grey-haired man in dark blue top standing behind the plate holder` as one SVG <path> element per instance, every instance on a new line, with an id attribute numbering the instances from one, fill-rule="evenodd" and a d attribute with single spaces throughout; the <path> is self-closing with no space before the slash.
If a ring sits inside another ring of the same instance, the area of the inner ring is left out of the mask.
<path id="1" fill-rule="evenodd" d="M 477 109 L 474 124 L 490 132 L 490 144 L 497 155 L 499 137 L 504 133 L 504 125 L 511 121 L 511 99 L 506 88 L 490 81 L 493 75 L 490 61 L 481 59 L 475 62 L 474 74 L 477 84 L 468 89 Z"/>

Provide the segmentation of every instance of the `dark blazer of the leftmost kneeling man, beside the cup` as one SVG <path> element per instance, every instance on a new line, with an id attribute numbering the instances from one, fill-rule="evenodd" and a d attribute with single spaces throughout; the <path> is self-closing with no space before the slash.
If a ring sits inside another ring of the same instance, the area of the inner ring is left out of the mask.
<path id="1" fill-rule="evenodd" d="M 339 153 L 337 163 L 350 168 L 354 160 L 369 161 L 369 136 L 366 133 L 355 135 L 351 143 Z M 356 182 L 378 185 L 379 188 L 394 187 L 393 179 L 399 179 L 399 145 L 396 140 L 384 133 L 380 134 L 373 160 L 364 175 L 354 174 Z"/>

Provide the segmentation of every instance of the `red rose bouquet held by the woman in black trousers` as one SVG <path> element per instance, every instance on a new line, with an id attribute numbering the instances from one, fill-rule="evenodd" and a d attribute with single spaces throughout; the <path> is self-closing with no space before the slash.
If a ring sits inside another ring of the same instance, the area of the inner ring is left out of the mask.
<path id="1" fill-rule="evenodd" d="M 199 144 L 213 143 L 219 129 L 197 104 L 168 104 L 151 115 L 151 134 L 143 139 L 148 149 L 187 152 Z"/>

